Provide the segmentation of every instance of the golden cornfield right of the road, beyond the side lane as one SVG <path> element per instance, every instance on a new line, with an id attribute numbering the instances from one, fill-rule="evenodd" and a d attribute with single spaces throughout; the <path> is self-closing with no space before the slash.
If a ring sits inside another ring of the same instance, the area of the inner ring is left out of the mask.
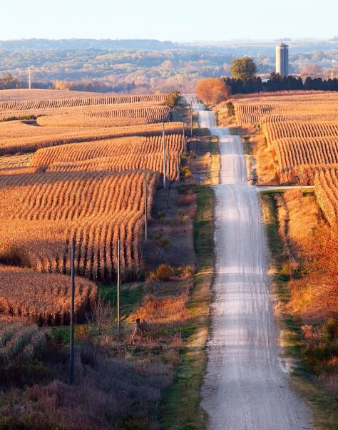
<path id="1" fill-rule="evenodd" d="M 337 93 L 246 98 L 235 114 L 237 123 L 260 123 L 282 183 L 313 184 L 317 170 L 338 163 Z"/>

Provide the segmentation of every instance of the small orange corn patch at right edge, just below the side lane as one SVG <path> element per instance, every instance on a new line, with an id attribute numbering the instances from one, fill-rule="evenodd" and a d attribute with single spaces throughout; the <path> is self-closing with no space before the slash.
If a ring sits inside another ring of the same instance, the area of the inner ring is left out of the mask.
<path id="1" fill-rule="evenodd" d="M 314 192 L 317 202 L 331 227 L 338 220 L 338 167 L 318 169 L 314 175 Z"/>

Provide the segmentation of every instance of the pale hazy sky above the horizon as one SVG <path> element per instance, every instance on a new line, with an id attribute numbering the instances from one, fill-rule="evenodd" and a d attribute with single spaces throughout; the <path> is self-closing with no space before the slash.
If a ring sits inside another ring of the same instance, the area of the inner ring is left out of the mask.
<path id="1" fill-rule="evenodd" d="M 0 40 L 29 38 L 331 38 L 338 0 L 14 0 L 1 3 Z"/>

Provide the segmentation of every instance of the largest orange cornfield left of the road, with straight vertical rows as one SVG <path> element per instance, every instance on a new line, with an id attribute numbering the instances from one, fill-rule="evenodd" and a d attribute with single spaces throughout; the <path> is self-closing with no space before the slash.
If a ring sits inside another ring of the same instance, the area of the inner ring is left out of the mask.
<path id="1" fill-rule="evenodd" d="M 148 208 L 160 178 L 149 171 Z M 76 237 L 76 273 L 115 278 L 121 237 L 123 278 L 143 267 L 143 171 L 49 172 L 0 175 L 1 261 L 41 272 L 70 273 Z"/>

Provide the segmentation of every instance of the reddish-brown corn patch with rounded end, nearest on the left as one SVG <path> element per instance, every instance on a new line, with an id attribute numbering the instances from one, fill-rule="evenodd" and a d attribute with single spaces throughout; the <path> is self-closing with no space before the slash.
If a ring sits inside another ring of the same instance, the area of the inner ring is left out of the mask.
<path id="1" fill-rule="evenodd" d="M 97 287 L 76 277 L 75 318 L 86 320 L 86 312 L 96 300 Z M 30 319 L 39 325 L 70 322 L 71 278 L 56 273 L 40 273 L 0 265 L 0 313 Z"/>

